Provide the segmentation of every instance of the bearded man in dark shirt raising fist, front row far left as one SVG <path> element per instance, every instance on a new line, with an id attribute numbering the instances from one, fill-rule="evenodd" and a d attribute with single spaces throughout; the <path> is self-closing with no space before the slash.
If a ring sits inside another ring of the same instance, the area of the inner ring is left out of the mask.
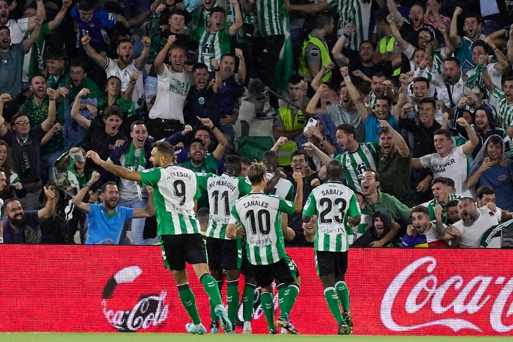
<path id="1" fill-rule="evenodd" d="M 41 210 L 25 211 L 19 200 L 14 198 L 5 201 L 4 244 L 41 243 L 40 221 L 51 218 L 55 212 L 55 202 L 53 200 L 55 194 L 46 187 L 43 187 L 43 191 L 47 200 L 45 207 Z"/>

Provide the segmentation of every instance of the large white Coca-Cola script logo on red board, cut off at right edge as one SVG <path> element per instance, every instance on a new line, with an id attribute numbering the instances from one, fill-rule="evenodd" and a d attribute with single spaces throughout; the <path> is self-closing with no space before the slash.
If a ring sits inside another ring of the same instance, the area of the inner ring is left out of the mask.
<path id="1" fill-rule="evenodd" d="M 469 268 L 465 270 L 467 273 Z M 380 308 L 386 328 L 405 332 L 442 326 L 453 332 L 470 329 L 483 333 L 487 328 L 484 325 L 489 322 L 496 332 L 513 330 L 511 275 L 507 280 L 502 275 L 478 274 L 466 276 L 469 280 L 465 281 L 461 274 L 453 274 L 441 280 L 433 274 L 436 271 L 437 260 L 426 256 L 413 261 L 391 281 Z M 483 271 L 479 269 L 479 273 Z"/>

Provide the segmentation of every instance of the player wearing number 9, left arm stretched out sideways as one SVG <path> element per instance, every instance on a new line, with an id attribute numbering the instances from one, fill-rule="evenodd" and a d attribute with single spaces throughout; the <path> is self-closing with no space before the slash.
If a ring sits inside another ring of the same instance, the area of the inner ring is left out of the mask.
<path id="1" fill-rule="evenodd" d="M 194 214 L 196 199 L 200 197 L 196 176 L 191 170 L 173 165 L 174 148 L 166 142 L 155 143 L 150 157 L 155 167 L 143 171 L 130 171 L 104 162 L 94 151 L 87 152 L 86 157 L 118 177 L 153 187 L 157 234 L 162 241 L 164 264 L 171 270 L 180 300 L 192 318 L 192 323 L 185 325 L 187 332 L 205 334 L 207 331 L 201 323 L 196 299 L 189 287 L 185 261 L 192 265 L 194 273 L 203 284 L 224 331 L 232 332 L 233 326 L 223 307 L 218 284 L 209 273 L 200 224 Z"/>

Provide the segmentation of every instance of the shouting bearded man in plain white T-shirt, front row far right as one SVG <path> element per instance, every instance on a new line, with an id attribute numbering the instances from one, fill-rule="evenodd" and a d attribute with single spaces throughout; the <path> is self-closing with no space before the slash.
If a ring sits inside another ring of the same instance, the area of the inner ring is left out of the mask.
<path id="1" fill-rule="evenodd" d="M 471 197 L 460 199 L 458 211 L 461 220 L 453 226 L 461 232 L 461 248 L 478 248 L 483 234 L 492 226 L 499 224 L 494 211 L 488 207 L 477 208 Z"/>

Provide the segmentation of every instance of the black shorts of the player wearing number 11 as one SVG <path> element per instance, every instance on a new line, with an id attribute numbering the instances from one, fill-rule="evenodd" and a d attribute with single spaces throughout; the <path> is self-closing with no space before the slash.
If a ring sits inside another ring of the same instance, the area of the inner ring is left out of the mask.
<path id="1" fill-rule="evenodd" d="M 240 270 L 242 240 L 220 239 L 207 236 L 208 267 L 211 270 Z"/>

